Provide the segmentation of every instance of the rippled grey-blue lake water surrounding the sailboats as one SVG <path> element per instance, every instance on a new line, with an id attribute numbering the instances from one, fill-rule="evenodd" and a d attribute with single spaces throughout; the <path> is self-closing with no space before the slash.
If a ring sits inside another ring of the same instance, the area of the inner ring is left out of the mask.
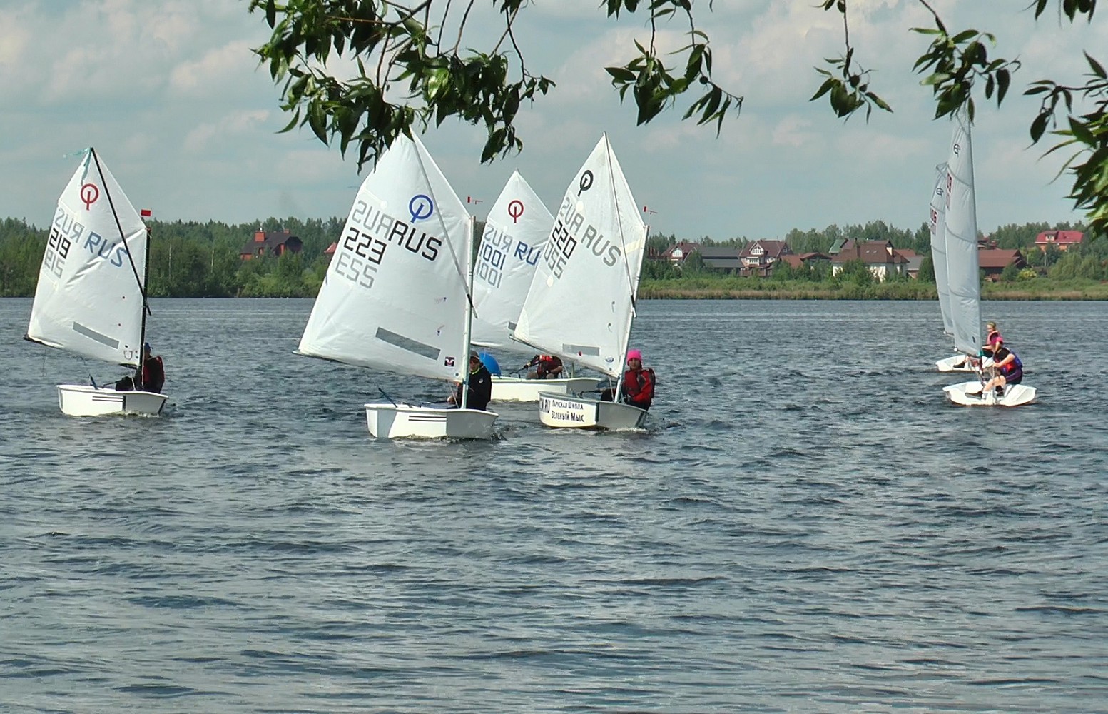
<path id="1" fill-rule="evenodd" d="M 1108 712 L 1108 304 L 983 306 L 1005 410 L 935 303 L 644 302 L 648 430 L 466 443 L 310 309 L 154 302 L 164 417 L 74 419 L 0 300 L 0 711 Z"/>

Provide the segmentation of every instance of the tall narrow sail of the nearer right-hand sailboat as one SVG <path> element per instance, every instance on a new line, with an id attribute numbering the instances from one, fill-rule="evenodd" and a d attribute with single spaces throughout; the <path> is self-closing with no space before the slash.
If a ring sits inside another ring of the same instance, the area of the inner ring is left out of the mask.
<path id="1" fill-rule="evenodd" d="M 981 277 L 977 268 L 977 203 L 974 196 L 970 122 L 955 115 L 946 172 L 946 273 L 954 347 L 981 354 Z"/>

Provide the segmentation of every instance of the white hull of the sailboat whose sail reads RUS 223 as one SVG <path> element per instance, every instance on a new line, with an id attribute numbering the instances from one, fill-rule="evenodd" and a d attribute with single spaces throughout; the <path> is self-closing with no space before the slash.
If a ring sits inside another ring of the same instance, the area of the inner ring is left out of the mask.
<path id="1" fill-rule="evenodd" d="M 499 415 L 407 404 L 368 404 L 366 422 L 379 439 L 491 439 Z"/>

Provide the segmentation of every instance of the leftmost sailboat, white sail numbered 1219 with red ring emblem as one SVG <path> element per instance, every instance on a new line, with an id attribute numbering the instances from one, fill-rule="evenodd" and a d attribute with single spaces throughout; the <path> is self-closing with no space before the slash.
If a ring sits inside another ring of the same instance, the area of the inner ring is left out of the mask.
<path id="1" fill-rule="evenodd" d="M 94 149 L 62 195 L 25 339 L 111 365 L 137 368 L 146 338 L 150 233 Z M 156 416 L 166 396 L 136 389 L 58 385 L 58 406 L 73 417 Z"/>

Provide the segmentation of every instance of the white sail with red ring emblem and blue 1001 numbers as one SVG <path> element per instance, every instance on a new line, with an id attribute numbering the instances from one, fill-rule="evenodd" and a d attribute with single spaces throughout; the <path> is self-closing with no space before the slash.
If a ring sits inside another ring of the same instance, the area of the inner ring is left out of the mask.
<path id="1" fill-rule="evenodd" d="M 520 172 L 513 172 L 485 221 L 473 268 L 472 341 L 511 347 L 554 216 Z M 517 346 L 517 345 L 516 345 Z"/>

